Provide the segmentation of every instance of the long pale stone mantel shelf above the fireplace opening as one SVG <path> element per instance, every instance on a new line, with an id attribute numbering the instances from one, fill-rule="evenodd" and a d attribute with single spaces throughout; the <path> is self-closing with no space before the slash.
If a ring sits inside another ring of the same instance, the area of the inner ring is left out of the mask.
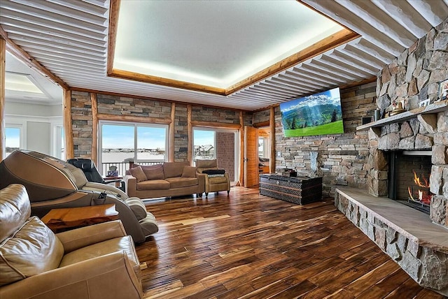
<path id="1" fill-rule="evenodd" d="M 416 108 L 414 110 L 402 112 L 398 115 L 393 115 L 391 117 L 386 117 L 379 119 L 376 122 L 370 122 L 368 124 L 363 124 L 362 126 L 357 126 L 356 131 L 362 131 L 377 126 L 385 126 L 386 124 L 394 124 L 397 122 L 405 122 L 407 119 L 416 118 L 419 115 L 435 114 L 438 112 L 443 112 L 448 110 L 448 100 L 439 101 L 427 105 L 426 107 Z"/>

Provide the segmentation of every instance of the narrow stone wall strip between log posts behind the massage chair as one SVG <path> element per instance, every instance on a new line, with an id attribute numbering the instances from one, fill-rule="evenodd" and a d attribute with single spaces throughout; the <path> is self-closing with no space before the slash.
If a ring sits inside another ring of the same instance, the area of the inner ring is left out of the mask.
<path id="1" fill-rule="evenodd" d="M 88 92 L 71 93 L 73 152 L 76 157 L 92 156 L 92 102 Z"/>

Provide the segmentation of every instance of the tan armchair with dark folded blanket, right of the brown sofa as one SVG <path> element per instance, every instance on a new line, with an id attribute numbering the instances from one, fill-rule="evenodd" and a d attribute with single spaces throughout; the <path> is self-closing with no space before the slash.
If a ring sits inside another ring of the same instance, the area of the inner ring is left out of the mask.
<path id="1" fill-rule="evenodd" d="M 196 160 L 196 171 L 205 174 L 205 198 L 209 192 L 227 191 L 230 193 L 230 178 L 225 170 L 218 168 L 214 160 Z"/>

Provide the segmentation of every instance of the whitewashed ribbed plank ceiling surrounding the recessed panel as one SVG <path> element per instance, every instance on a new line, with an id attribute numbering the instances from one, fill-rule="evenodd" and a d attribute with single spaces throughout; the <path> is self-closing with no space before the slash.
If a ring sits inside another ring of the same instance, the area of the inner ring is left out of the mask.
<path id="1" fill-rule="evenodd" d="M 448 0 L 302 2 L 360 37 L 228 96 L 107 77 L 109 0 L 1 0 L 0 33 L 71 89 L 258 110 L 372 79 L 448 17 Z"/>

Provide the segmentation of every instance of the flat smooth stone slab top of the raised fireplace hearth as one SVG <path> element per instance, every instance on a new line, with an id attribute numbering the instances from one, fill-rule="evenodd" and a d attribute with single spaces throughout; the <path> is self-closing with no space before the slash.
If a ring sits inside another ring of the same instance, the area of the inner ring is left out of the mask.
<path id="1" fill-rule="evenodd" d="M 422 247 L 448 253 L 448 229 L 430 221 L 429 216 L 412 207 L 385 197 L 375 197 L 367 191 L 349 187 L 336 192 L 374 214 L 379 220 Z"/>

